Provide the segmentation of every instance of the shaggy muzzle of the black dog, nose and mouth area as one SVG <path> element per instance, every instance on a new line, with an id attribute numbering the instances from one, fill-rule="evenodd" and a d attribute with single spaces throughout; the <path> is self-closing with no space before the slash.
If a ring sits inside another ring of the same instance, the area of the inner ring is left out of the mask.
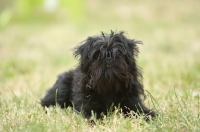
<path id="1" fill-rule="evenodd" d="M 118 59 L 106 58 L 103 62 L 97 60 L 89 67 L 89 73 L 92 75 L 91 83 L 112 84 L 117 80 L 124 82 L 129 76 L 128 72 L 128 65 L 122 57 L 118 57 Z"/>

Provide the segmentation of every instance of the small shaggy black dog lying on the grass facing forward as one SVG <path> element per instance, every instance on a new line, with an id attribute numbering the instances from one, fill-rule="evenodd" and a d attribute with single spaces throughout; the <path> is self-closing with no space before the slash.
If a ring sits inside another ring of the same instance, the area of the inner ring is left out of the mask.
<path id="1" fill-rule="evenodd" d="M 123 32 L 88 37 L 74 52 L 80 64 L 59 75 L 41 100 L 42 106 L 74 106 L 86 118 L 91 117 L 92 111 L 100 118 L 108 114 L 111 106 L 120 107 L 124 115 L 134 111 L 154 117 L 155 113 L 140 98 L 145 95 L 135 59 L 139 43 L 126 38 Z"/>

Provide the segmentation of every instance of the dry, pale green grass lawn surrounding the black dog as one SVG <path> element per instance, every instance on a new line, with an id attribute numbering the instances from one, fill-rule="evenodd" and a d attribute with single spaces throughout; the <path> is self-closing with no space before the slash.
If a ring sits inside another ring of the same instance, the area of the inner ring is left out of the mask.
<path id="1" fill-rule="evenodd" d="M 107 2 L 88 0 L 86 19 L 80 23 L 58 18 L 12 23 L 0 30 L 0 131 L 200 131 L 199 2 Z M 147 90 L 145 104 L 159 116 L 147 123 L 115 112 L 92 127 L 70 108 L 50 108 L 45 114 L 40 98 L 59 73 L 77 65 L 71 49 L 110 29 L 143 41 L 138 64 Z"/>

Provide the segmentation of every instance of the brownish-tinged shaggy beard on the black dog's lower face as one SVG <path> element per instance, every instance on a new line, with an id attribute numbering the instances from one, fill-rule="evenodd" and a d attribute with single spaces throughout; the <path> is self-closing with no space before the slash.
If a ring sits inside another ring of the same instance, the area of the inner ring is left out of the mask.
<path id="1" fill-rule="evenodd" d="M 129 67 L 122 57 L 114 60 L 109 67 L 105 62 L 97 60 L 92 63 L 88 73 L 90 76 L 88 85 L 100 93 L 120 92 L 121 86 L 128 87 L 132 78 Z"/>

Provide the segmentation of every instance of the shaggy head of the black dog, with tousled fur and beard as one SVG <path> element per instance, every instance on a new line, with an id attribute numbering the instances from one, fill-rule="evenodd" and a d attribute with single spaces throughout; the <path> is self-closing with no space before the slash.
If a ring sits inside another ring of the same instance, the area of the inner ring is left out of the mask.
<path id="1" fill-rule="evenodd" d="M 99 92 L 121 91 L 122 86 L 142 89 L 135 59 L 139 43 L 128 39 L 124 32 L 88 37 L 76 48 L 75 56 L 80 56 L 80 69 L 89 88 Z"/>

